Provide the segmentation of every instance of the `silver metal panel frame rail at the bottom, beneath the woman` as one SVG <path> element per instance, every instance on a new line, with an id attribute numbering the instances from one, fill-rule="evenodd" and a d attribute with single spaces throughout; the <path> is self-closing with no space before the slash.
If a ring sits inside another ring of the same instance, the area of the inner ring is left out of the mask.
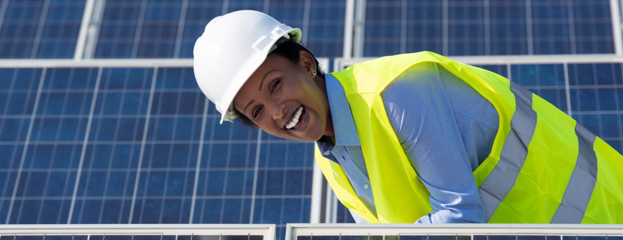
<path id="1" fill-rule="evenodd" d="M 623 224 L 287 224 L 285 240 L 298 236 L 556 235 L 623 236 Z M 313 238 L 312 238 L 313 239 Z"/>

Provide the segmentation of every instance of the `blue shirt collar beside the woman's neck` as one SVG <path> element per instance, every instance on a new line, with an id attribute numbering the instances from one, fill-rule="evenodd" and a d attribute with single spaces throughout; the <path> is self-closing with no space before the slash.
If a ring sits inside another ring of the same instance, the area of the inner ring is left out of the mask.
<path id="1" fill-rule="evenodd" d="M 333 131 L 335 132 L 335 145 L 361 145 L 344 87 L 335 76 L 330 74 L 325 74 L 325 85 L 326 96 L 329 99 L 329 111 L 333 121 Z M 316 143 L 318 143 L 318 148 L 323 155 L 329 154 L 334 147 L 326 136 L 323 136 Z"/>

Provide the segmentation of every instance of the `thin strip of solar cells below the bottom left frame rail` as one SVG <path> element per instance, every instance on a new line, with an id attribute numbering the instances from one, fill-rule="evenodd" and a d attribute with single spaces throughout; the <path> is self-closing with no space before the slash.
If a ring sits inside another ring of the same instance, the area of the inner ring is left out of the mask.
<path id="1" fill-rule="evenodd" d="M 4 235 L 0 240 L 262 240 L 261 235 Z"/>

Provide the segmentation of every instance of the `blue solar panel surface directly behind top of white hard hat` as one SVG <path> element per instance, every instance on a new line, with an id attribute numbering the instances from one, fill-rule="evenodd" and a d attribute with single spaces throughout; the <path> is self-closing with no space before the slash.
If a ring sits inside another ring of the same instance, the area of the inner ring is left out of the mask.
<path id="1" fill-rule="evenodd" d="M 343 55 L 345 2 L 114 0 L 106 1 L 95 57 L 192 58 L 207 22 L 244 9 L 267 12 L 302 29 L 301 41 L 316 57 Z"/>

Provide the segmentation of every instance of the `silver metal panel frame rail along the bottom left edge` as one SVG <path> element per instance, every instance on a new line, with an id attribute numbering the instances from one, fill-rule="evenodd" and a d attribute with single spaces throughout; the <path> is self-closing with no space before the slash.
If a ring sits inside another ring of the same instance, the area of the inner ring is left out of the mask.
<path id="1" fill-rule="evenodd" d="M 275 224 L 6 224 L 0 235 L 261 235 L 275 239 Z"/>

